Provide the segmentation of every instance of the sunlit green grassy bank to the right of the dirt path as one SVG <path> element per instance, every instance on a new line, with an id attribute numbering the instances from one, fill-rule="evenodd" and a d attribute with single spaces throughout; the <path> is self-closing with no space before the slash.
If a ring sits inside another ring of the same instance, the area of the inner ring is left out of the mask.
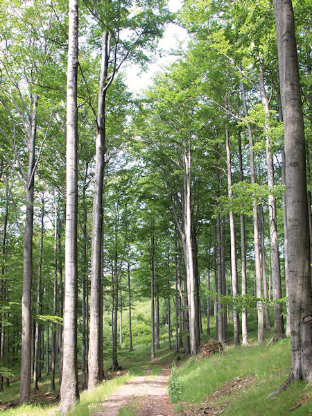
<path id="1" fill-rule="evenodd" d="M 251 331 L 250 347 L 229 345 L 224 354 L 216 354 L 200 362 L 189 358 L 178 368 L 182 394 L 180 404 L 175 407 L 177 415 L 183 414 L 182 402 L 195 408 L 205 408 L 207 403 L 206 406 L 213 406 L 215 411 L 223 410 L 224 416 L 288 415 L 289 409 L 297 404 L 300 406 L 291 411 L 292 415 L 312 414 L 311 390 L 304 390 L 306 385 L 302 381 L 292 383 L 273 399 L 266 399 L 268 393 L 278 388 L 288 376 L 291 342 L 283 339 L 268 347 L 259 347 L 254 343 L 253 335 Z M 270 340 L 271 334 L 267 335 Z M 243 383 L 241 388 L 231 388 L 235 377 L 248 379 L 248 382 Z"/>

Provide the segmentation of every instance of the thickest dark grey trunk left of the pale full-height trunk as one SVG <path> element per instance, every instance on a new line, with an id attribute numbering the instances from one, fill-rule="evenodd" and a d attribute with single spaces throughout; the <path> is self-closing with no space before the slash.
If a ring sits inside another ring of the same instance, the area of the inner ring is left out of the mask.
<path id="1" fill-rule="evenodd" d="M 33 191 L 35 184 L 35 140 L 37 130 L 36 94 L 31 95 L 29 122 L 23 294 L 21 297 L 21 385 L 19 390 L 19 405 L 28 404 L 31 395 L 31 288 L 33 281 Z"/>

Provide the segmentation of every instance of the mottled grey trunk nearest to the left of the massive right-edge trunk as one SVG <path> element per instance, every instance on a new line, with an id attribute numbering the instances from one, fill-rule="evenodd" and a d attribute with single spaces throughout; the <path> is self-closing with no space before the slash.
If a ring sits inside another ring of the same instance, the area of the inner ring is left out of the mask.
<path id="1" fill-rule="evenodd" d="M 271 243 L 271 268 L 272 268 L 272 286 L 273 300 L 281 299 L 281 268 L 279 264 L 279 242 L 277 239 L 277 216 L 276 216 L 276 200 L 272 193 L 274 189 L 274 166 L 271 152 L 270 139 L 270 108 L 266 89 L 264 87 L 263 67 L 259 68 L 259 87 L 261 102 L 265 113 L 265 131 L 266 131 L 266 167 L 268 172 L 268 189 L 269 189 L 269 219 L 270 219 L 270 243 Z M 284 320 L 281 315 L 281 303 L 274 304 L 274 335 L 273 340 L 277 341 L 285 336 Z"/>

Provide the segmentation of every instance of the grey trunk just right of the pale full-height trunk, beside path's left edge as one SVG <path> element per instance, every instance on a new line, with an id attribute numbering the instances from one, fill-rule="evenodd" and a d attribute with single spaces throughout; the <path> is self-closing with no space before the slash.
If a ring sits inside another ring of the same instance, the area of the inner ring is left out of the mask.
<path id="1" fill-rule="evenodd" d="M 91 249 L 91 296 L 90 296 L 90 340 L 89 340 L 89 390 L 101 381 L 101 308 L 100 286 L 102 278 L 101 257 L 103 233 L 103 180 L 105 171 L 105 98 L 106 80 L 110 52 L 110 35 L 103 33 L 100 83 L 98 86 L 98 116 L 96 120 L 96 156 L 94 172 L 93 194 L 93 223 L 92 223 L 92 249 Z"/>

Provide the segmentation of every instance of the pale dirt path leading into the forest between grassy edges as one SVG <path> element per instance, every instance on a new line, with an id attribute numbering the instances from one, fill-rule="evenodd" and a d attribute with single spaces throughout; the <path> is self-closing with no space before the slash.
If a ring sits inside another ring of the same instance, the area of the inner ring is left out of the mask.
<path id="1" fill-rule="evenodd" d="M 159 376 L 153 378 L 149 378 L 149 372 L 121 385 L 92 415 L 117 416 L 123 406 L 135 399 L 136 416 L 173 416 L 172 404 L 167 392 L 170 369 L 163 368 Z"/>

